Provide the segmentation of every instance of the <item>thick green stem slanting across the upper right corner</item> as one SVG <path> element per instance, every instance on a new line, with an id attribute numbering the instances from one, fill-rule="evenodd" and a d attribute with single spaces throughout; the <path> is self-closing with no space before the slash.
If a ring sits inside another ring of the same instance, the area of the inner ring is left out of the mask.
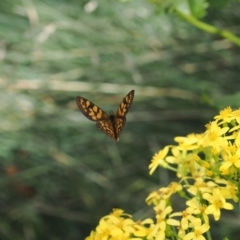
<path id="1" fill-rule="evenodd" d="M 223 38 L 226 38 L 228 39 L 229 41 L 237 44 L 238 46 L 240 46 L 240 38 L 237 37 L 236 35 L 232 34 L 231 32 L 228 32 L 226 30 L 221 30 L 221 29 L 218 29 L 212 25 L 209 25 L 207 23 L 204 23 L 204 22 L 201 22 L 199 21 L 198 19 L 196 19 L 195 17 L 193 17 L 192 15 L 187 15 L 187 14 L 184 14 L 183 12 L 181 11 L 178 11 L 176 10 L 175 13 L 181 17 L 182 19 L 184 19 L 185 21 L 187 22 L 190 22 L 192 25 L 206 31 L 206 32 L 209 32 L 209 33 L 212 33 L 212 34 L 216 34 L 216 35 L 219 35 Z"/>

